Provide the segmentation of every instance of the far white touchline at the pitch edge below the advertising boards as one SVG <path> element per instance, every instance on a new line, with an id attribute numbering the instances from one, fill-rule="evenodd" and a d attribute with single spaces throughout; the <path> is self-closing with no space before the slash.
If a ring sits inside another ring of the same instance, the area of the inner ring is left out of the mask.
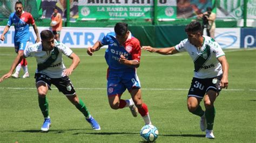
<path id="1" fill-rule="evenodd" d="M 225 50 L 225 53 L 228 52 L 237 52 L 237 51 L 252 51 L 255 50 L 256 48 L 240 48 L 240 49 L 230 49 L 230 50 Z M 17 54 L 0 54 L 0 56 L 16 56 Z M 160 54 L 142 54 L 142 56 L 181 56 L 181 55 L 188 55 L 185 53 L 179 53 L 179 54 L 175 54 L 175 55 L 160 55 Z M 78 56 L 89 56 L 87 54 L 78 54 Z M 103 54 L 97 54 L 95 53 L 93 56 L 104 56 Z"/>

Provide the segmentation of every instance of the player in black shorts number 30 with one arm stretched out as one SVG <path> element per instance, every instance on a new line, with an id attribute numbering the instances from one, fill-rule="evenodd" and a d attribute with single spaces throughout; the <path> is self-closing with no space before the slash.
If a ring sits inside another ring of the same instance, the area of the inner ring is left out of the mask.
<path id="1" fill-rule="evenodd" d="M 228 86 L 228 63 L 220 45 L 211 37 L 203 36 L 201 24 L 191 22 L 185 28 L 187 39 L 168 48 L 143 46 L 149 52 L 163 55 L 188 52 L 194 61 L 194 77 L 187 95 L 188 111 L 200 116 L 201 131 L 206 138 L 214 138 L 213 123 L 215 117 L 214 101 L 222 88 Z M 205 111 L 200 102 L 204 99 Z M 206 124 L 207 123 L 207 124 Z"/>

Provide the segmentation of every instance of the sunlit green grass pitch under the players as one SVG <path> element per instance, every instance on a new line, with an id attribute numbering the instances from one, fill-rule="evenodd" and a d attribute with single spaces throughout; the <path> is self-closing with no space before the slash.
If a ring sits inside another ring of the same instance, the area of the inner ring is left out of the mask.
<path id="1" fill-rule="evenodd" d="M 54 85 L 48 92 L 52 126 L 40 132 L 43 116 L 38 106 L 33 73 L 35 58 L 28 58 L 29 78 L 9 78 L 0 83 L 0 142 L 140 142 L 144 121 L 132 117 L 129 108 L 112 110 L 106 96 L 104 49 L 93 56 L 86 49 L 73 49 L 81 62 L 70 76 L 77 94 L 102 130 L 91 130 L 82 113 Z M 142 52 L 137 70 L 157 142 L 255 142 L 256 141 L 256 50 L 226 50 L 230 65 L 228 89 L 215 101 L 214 140 L 200 131 L 200 118 L 187 111 L 187 90 L 193 62 L 187 53 L 172 56 Z M 14 48 L 0 48 L 0 75 L 15 59 Z M 71 60 L 64 57 L 66 67 Z M 23 71 L 20 73 L 20 77 Z M 130 98 L 127 91 L 123 99 Z M 203 105 L 201 103 L 201 105 Z"/>

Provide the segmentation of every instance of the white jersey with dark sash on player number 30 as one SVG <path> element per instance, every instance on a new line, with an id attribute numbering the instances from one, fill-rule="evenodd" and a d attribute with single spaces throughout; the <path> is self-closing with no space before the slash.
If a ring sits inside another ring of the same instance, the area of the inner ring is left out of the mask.
<path id="1" fill-rule="evenodd" d="M 220 45 L 211 37 L 203 36 L 204 44 L 198 48 L 188 39 L 175 46 L 178 52 L 187 51 L 194 61 L 194 77 L 211 78 L 223 74 L 221 64 L 217 58 L 225 55 Z"/>

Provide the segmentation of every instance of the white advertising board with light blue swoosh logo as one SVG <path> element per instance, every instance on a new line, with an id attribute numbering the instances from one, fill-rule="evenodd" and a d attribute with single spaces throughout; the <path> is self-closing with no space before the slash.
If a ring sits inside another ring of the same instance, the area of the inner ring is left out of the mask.
<path id="1" fill-rule="evenodd" d="M 240 48 L 241 28 L 216 28 L 215 40 L 222 48 Z"/>

